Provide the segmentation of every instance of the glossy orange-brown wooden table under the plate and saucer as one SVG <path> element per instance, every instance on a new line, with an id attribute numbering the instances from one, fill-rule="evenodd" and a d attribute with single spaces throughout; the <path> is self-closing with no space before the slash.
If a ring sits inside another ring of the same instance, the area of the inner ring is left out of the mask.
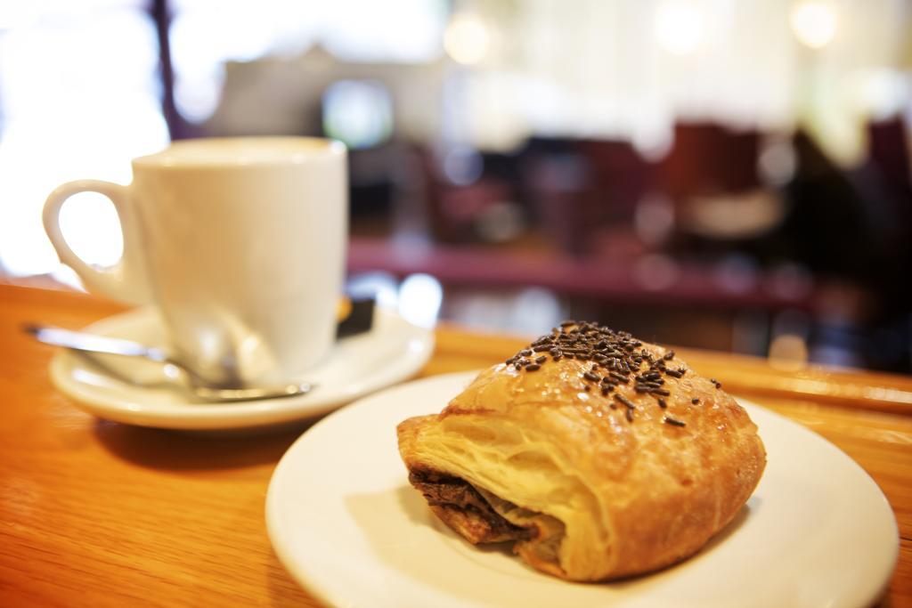
<path id="1" fill-rule="evenodd" d="M 88 416 L 51 386 L 53 349 L 19 330 L 25 321 L 79 327 L 119 310 L 0 285 L 0 606 L 317 605 L 276 560 L 264 527 L 267 483 L 299 432 L 205 437 Z M 441 327 L 421 375 L 487 366 L 520 345 Z M 884 605 L 912 606 L 912 379 L 681 356 L 871 474 L 901 536 Z"/>

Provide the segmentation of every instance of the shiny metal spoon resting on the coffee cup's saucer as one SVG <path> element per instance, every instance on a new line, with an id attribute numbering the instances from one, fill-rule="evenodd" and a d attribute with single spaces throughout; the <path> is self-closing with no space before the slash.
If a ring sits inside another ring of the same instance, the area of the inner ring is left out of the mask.
<path id="1" fill-rule="evenodd" d="M 62 327 L 50 325 L 24 325 L 27 333 L 34 335 L 39 342 L 64 346 L 84 353 L 104 355 L 138 356 L 161 363 L 165 376 L 182 378 L 186 386 L 196 397 L 206 401 L 250 401 L 253 399 L 273 399 L 275 397 L 294 397 L 309 393 L 314 385 L 303 382 L 278 386 L 211 386 L 190 368 L 175 361 L 163 349 L 142 345 L 132 340 L 110 338 L 105 335 L 75 332 Z"/>

